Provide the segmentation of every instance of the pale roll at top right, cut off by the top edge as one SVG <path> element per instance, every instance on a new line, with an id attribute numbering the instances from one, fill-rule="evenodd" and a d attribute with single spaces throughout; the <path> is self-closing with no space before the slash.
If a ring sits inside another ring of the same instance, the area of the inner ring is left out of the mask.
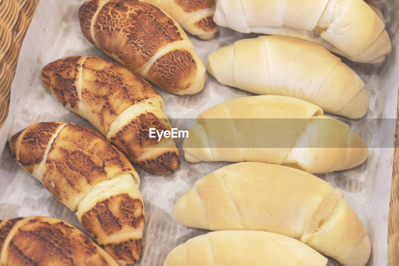
<path id="1" fill-rule="evenodd" d="M 363 0 L 219 0 L 216 24 L 314 42 L 361 63 L 391 52 L 385 24 Z"/>

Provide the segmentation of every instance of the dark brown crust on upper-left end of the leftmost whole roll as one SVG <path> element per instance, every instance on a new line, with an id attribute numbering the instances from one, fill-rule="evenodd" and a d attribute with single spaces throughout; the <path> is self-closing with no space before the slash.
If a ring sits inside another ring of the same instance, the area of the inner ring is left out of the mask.
<path id="1" fill-rule="evenodd" d="M 34 168 L 38 167 L 43 160 L 48 143 L 61 124 L 61 122 L 42 122 L 30 126 L 24 131 L 19 143 L 18 163 L 28 173 L 32 174 Z M 11 139 L 11 143 L 13 143 L 9 145 L 11 154 L 15 153 L 15 141 L 20 133 L 21 131 L 16 133 Z M 14 149 L 14 151 L 11 149 Z"/>

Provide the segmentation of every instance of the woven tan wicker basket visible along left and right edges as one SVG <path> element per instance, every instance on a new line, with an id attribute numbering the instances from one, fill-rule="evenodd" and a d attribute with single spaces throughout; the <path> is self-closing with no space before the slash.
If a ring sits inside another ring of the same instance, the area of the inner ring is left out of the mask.
<path id="1" fill-rule="evenodd" d="M 4 124 L 10 103 L 18 55 L 39 0 L 0 0 L 0 127 Z M 399 102 L 399 98 L 398 98 Z M 388 265 L 399 265 L 399 147 L 396 118 L 395 149 L 388 224 Z"/>

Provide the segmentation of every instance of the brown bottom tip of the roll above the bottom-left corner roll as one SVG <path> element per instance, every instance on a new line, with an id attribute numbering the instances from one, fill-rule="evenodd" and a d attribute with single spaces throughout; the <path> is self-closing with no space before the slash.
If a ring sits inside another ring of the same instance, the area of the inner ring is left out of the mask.
<path id="1" fill-rule="evenodd" d="M 130 238 L 125 241 L 100 244 L 100 246 L 109 254 L 115 254 L 122 260 L 136 263 L 142 250 L 142 238 Z"/>

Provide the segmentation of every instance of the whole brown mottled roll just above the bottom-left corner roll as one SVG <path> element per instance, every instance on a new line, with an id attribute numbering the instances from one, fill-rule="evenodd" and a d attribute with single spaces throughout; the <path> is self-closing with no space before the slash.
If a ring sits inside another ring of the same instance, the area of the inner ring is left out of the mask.
<path id="1" fill-rule="evenodd" d="M 7 149 L 71 210 L 120 265 L 140 257 L 144 205 L 128 159 L 92 129 L 43 122 L 14 134 Z"/>

